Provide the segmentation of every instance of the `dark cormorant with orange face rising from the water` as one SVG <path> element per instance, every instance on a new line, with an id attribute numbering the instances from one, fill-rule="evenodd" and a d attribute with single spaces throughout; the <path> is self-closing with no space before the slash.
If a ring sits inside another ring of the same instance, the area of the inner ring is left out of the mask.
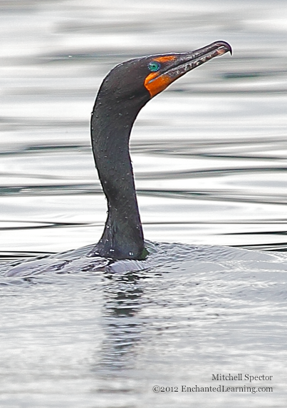
<path id="1" fill-rule="evenodd" d="M 129 139 L 137 114 L 170 83 L 215 56 L 231 53 L 217 41 L 187 53 L 144 56 L 115 66 L 105 77 L 91 120 L 93 155 L 108 200 L 102 238 L 90 255 L 112 259 L 144 259 L 142 224 L 137 207 Z"/>

